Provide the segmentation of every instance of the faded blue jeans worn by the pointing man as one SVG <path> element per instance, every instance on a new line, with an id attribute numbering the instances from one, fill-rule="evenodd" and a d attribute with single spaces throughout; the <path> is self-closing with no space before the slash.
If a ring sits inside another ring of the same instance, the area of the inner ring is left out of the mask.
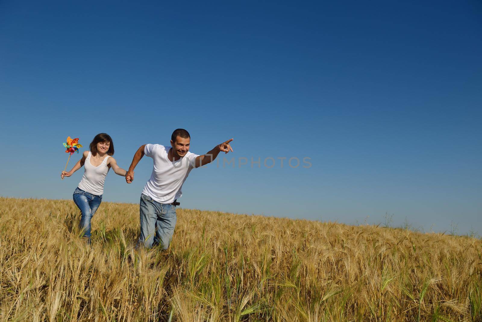
<path id="1" fill-rule="evenodd" d="M 141 233 L 137 246 L 143 245 L 151 248 L 160 244 L 162 249 L 167 249 L 176 226 L 176 206 L 159 203 L 151 197 L 141 194 L 139 209 Z"/>

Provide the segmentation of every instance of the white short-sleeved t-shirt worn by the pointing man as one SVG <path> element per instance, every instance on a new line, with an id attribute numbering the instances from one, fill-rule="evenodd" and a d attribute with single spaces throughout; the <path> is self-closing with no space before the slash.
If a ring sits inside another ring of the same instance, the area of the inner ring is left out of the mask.
<path id="1" fill-rule="evenodd" d="M 187 152 L 181 159 L 169 161 L 167 154 L 171 148 L 160 144 L 146 144 L 144 148 L 144 154 L 154 160 L 154 167 L 142 193 L 160 203 L 171 203 L 182 196 L 182 185 L 199 157 Z"/>

